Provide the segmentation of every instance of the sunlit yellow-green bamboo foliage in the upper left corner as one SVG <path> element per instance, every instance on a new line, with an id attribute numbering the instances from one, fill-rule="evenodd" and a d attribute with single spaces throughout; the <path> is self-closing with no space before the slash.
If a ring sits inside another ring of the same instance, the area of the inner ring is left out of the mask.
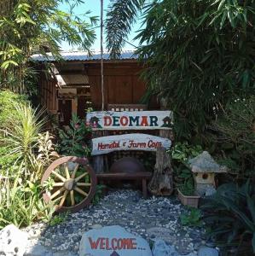
<path id="1" fill-rule="evenodd" d="M 70 11 L 61 11 L 61 3 L 68 3 Z M 46 56 L 51 52 L 60 59 L 60 43 L 90 48 L 96 34 L 93 26 L 96 17 L 81 19 L 73 14 L 73 8 L 81 0 L 23 0 L 0 3 L 0 87 L 27 91 L 25 79 L 35 76 L 29 67 L 33 53 Z"/>

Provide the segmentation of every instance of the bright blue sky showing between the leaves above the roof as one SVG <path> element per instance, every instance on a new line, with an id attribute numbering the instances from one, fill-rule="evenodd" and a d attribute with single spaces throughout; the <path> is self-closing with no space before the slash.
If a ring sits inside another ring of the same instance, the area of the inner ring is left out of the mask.
<path id="1" fill-rule="evenodd" d="M 107 6 L 109 5 L 110 0 L 104 0 L 104 19 L 106 18 L 107 13 Z M 68 5 L 67 3 L 63 3 L 60 6 L 61 10 L 68 11 Z M 84 15 L 85 12 L 91 11 L 90 16 L 98 16 L 100 18 L 101 14 L 101 0 L 84 0 L 84 3 L 81 3 L 74 9 L 74 14 L 79 15 L 81 18 L 81 15 Z M 100 21 L 98 23 L 100 25 Z M 132 28 L 132 32 L 130 33 L 128 42 L 131 44 L 137 45 L 138 42 L 132 40 L 136 36 L 136 31 L 139 30 L 140 24 L 135 24 Z M 104 41 L 105 41 L 106 35 L 104 35 Z M 104 44 L 105 45 L 105 44 Z M 70 50 L 72 49 L 72 46 L 69 46 L 66 42 L 63 42 L 61 44 L 62 50 Z M 105 48 L 105 47 L 104 47 Z M 91 49 L 99 50 L 100 49 L 100 27 L 96 28 L 96 42 L 91 47 Z M 125 44 L 124 50 L 127 49 L 134 49 L 134 47 L 130 44 Z"/>

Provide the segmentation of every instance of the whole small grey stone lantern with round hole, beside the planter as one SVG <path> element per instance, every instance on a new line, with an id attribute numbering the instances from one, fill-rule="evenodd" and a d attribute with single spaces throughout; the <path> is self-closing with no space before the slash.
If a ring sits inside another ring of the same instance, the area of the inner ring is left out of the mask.
<path id="1" fill-rule="evenodd" d="M 196 192 L 200 196 L 212 195 L 215 189 L 215 173 L 227 172 L 226 166 L 220 166 L 207 151 L 188 161 L 194 173 Z"/>

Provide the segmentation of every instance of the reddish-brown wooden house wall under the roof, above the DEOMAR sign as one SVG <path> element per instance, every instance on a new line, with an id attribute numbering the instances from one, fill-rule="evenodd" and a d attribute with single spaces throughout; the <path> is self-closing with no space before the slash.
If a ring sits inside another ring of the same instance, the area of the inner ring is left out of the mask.
<path id="1" fill-rule="evenodd" d="M 108 63 L 104 65 L 105 104 L 137 104 L 146 91 L 146 84 L 139 79 L 141 67 L 137 63 Z M 88 68 L 92 106 L 101 108 L 100 64 Z"/>

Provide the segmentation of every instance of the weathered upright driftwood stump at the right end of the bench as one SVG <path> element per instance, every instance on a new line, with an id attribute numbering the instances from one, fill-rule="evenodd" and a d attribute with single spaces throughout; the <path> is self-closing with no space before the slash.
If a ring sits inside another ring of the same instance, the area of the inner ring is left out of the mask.
<path id="1" fill-rule="evenodd" d="M 171 195 L 173 191 L 171 157 L 165 148 L 158 148 L 154 176 L 148 184 L 148 190 L 153 195 Z"/>

